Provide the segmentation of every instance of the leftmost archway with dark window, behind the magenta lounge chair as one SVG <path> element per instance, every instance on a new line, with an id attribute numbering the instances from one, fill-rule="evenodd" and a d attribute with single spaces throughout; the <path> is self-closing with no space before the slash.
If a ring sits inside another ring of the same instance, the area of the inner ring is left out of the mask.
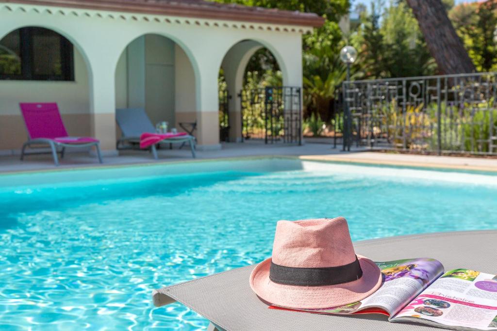
<path id="1" fill-rule="evenodd" d="M 0 36 L 0 150 L 26 141 L 20 102 L 56 102 L 70 135 L 91 135 L 91 69 L 68 36 L 24 26 Z"/>

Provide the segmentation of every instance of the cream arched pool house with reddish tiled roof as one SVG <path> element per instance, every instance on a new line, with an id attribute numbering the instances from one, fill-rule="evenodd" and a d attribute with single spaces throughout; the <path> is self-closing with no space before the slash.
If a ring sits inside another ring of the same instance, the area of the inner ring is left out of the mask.
<path id="1" fill-rule="evenodd" d="M 323 22 L 203 0 L 0 1 L 0 154 L 26 140 L 19 102 L 57 102 L 70 135 L 96 137 L 104 155 L 117 154 L 116 108 L 145 108 L 178 130 L 196 123 L 198 148 L 219 149 L 220 68 L 239 141 L 250 57 L 269 49 L 283 85 L 302 87 L 302 34 Z"/>

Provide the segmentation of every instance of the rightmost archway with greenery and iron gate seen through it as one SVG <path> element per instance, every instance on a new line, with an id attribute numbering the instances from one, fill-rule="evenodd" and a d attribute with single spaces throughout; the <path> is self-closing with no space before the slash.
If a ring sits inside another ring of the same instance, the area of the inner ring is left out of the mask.
<path id="1" fill-rule="evenodd" d="M 300 137 L 290 123 L 300 123 L 300 115 L 289 112 L 292 93 L 298 94 L 300 111 L 300 90 L 283 86 L 281 65 L 258 41 L 241 41 L 227 52 L 219 74 L 221 141 L 294 142 Z"/>

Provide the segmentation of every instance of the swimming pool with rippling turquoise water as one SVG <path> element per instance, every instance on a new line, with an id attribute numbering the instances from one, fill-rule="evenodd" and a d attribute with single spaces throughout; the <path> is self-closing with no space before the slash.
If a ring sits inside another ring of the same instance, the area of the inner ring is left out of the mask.
<path id="1" fill-rule="evenodd" d="M 203 329 L 152 290 L 267 258 L 279 219 L 341 215 L 353 240 L 495 229 L 496 196 L 491 174 L 293 159 L 0 176 L 0 330 Z"/>

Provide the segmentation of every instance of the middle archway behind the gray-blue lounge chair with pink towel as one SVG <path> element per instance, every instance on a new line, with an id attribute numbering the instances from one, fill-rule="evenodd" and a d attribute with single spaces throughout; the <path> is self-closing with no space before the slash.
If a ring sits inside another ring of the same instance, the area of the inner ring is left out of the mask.
<path id="1" fill-rule="evenodd" d="M 163 35 L 146 34 L 129 43 L 119 58 L 116 108 L 144 110 L 150 124 L 161 131 L 195 135 L 195 82 L 192 63 L 180 45 Z M 117 122 L 118 140 L 129 137 Z M 133 146 L 118 144 L 118 148 L 129 147 Z"/>

